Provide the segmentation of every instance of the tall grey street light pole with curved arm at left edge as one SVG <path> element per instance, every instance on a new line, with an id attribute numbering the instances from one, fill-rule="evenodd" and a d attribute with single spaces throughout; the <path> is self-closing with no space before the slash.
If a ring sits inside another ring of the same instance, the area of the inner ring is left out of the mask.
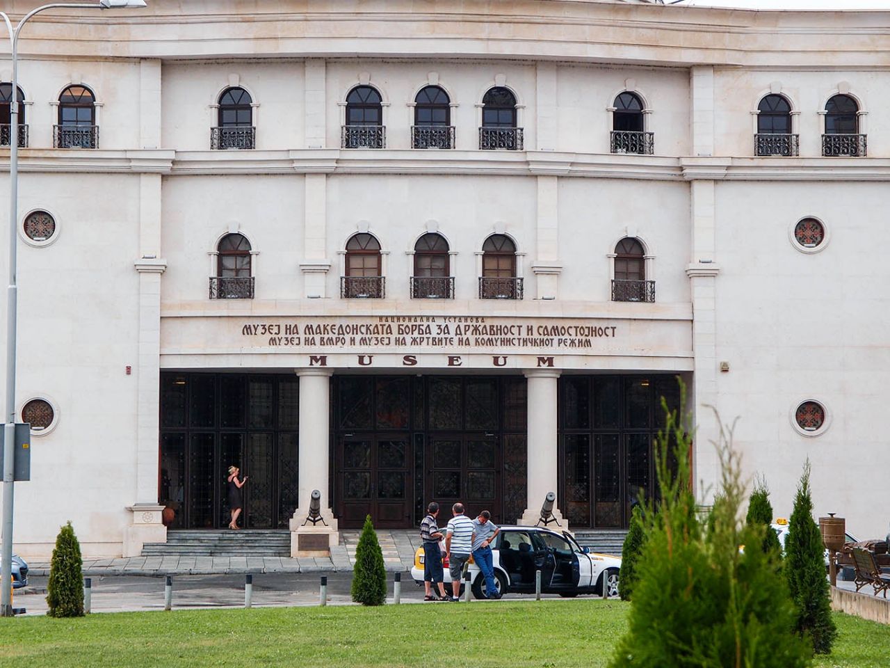
<path id="1" fill-rule="evenodd" d="M 6 288 L 6 423 L 3 456 L 3 550 L 0 550 L 0 616 L 12 616 L 12 468 L 15 457 L 15 344 L 16 344 L 16 233 L 19 224 L 19 35 L 21 27 L 47 9 L 123 9 L 145 7 L 145 0 L 94 0 L 92 3 L 51 3 L 31 10 L 12 28 L 4 12 L 0 16 L 9 31 L 12 54 L 9 142 L 9 285 Z"/>

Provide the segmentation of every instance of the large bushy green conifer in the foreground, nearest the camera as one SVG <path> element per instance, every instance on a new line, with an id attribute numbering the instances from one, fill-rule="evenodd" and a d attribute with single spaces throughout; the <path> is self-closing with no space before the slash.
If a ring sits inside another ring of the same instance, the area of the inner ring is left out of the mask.
<path id="1" fill-rule="evenodd" d="M 628 631 L 611 668 L 803 668 L 812 651 L 794 632 L 776 555 L 739 549 L 763 534 L 740 521 L 745 485 L 732 429 L 721 428 L 716 444 L 721 501 L 709 529 L 695 512 L 691 444 L 683 421 L 668 412 L 657 443 L 659 499 L 643 518 Z"/>

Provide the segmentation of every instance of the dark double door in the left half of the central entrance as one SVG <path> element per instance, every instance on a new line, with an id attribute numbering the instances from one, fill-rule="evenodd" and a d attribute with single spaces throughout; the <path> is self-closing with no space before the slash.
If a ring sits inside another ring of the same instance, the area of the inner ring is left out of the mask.
<path id="1" fill-rule="evenodd" d="M 344 436 L 337 448 L 336 496 L 344 528 L 370 515 L 376 528 L 411 521 L 413 457 L 407 435 Z"/>

